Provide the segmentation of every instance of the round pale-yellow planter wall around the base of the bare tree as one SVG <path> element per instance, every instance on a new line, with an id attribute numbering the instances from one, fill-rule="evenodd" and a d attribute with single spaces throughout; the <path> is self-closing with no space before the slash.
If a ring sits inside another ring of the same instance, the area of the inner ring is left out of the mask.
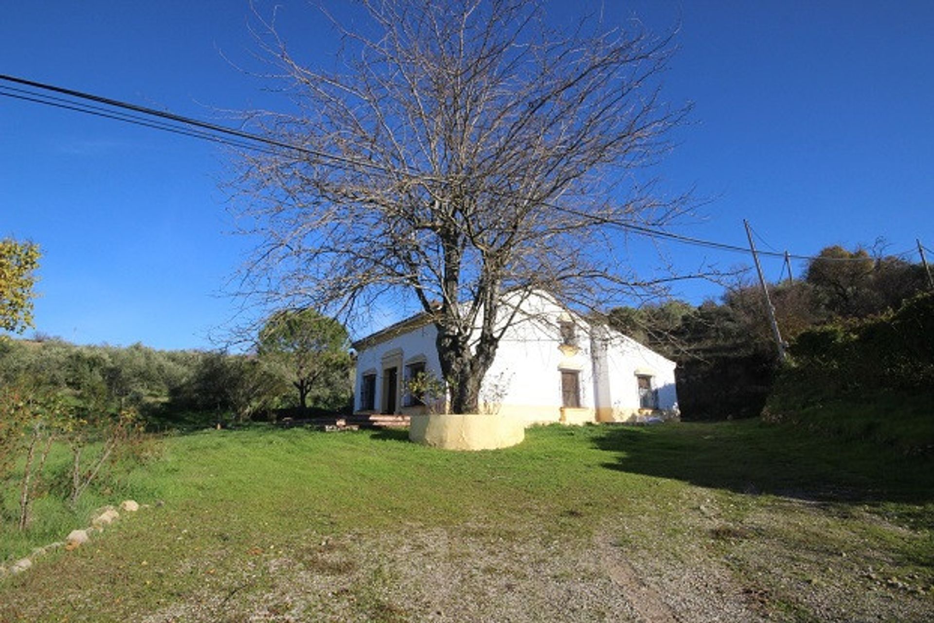
<path id="1" fill-rule="evenodd" d="M 412 416 L 409 439 L 447 450 L 495 450 L 521 443 L 525 422 L 477 413 Z"/>

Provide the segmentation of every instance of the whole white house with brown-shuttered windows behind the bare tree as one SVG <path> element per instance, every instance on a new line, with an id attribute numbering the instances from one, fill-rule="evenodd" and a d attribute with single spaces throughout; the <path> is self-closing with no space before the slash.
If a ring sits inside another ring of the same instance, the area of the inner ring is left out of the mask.
<path id="1" fill-rule="evenodd" d="M 527 424 L 677 418 L 673 361 L 630 337 L 587 322 L 545 292 L 514 292 L 514 309 L 481 389 L 481 410 Z M 419 372 L 441 377 L 437 331 L 421 313 L 354 343 L 354 409 L 360 414 L 425 412 L 406 391 Z"/>

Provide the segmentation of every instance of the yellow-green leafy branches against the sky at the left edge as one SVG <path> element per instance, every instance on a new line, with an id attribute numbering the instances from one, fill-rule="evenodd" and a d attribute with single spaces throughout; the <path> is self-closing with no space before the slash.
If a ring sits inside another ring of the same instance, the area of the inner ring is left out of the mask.
<path id="1" fill-rule="evenodd" d="M 38 245 L 0 240 L 0 329 L 22 333 L 33 326 L 33 271 L 40 257 Z"/>

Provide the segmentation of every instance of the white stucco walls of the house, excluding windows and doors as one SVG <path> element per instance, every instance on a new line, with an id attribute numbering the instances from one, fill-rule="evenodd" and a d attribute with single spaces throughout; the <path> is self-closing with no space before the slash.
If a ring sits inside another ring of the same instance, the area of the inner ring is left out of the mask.
<path id="1" fill-rule="evenodd" d="M 658 407 L 676 408 L 674 362 L 625 335 L 606 328 L 591 328 L 572 317 L 550 297 L 531 297 L 503 334 L 496 359 L 481 389 L 481 410 L 523 418 L 526 423 L 557 421 L 619 421 L 639 412 L 637 375 L 651 375 L 658 389 Z M 510 315 L 504 307 L 501 322 Z M 577 347 L 562 347 L 560 320 L 572 319 Z M 383 403 L 384 370 L 389 361 L 399 366 L 397 412 L 403 408 L 404 370 L 411 361 L 425 361 L 426 370 L 441 377 L 435 346 L 436 330 L 428 324 L 358 353 L 354 406 L 362 409 L 363 375 L 375 374 L 375 410 Z M 389 359 L 387 359 L 389 357 Z M 561 370 L 579 373 L 580 407 L 562 410 Z"/>

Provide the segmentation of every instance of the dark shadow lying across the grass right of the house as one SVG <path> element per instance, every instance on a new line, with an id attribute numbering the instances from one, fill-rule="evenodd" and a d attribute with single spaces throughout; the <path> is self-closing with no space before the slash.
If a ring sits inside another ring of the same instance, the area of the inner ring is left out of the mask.
<path id="1" fill-rule="evenodd" d="M 759 419 L 612 426 L 594 443 L 616 453 L 608 469 L 700 487 L 822 503 L 934 502 L 929 458 Z"/>

